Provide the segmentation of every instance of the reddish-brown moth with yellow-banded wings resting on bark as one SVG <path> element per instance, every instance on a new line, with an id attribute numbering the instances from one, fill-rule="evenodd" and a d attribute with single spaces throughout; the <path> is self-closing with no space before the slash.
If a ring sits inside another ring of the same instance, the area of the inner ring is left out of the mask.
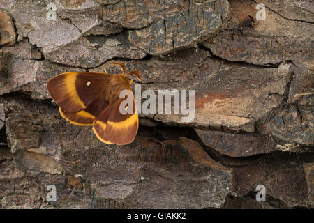
<path id="1" fill-rule="evenodd" d="M 135 70 L 126 74 L 123 63 L 112 64 L 121 66 L 122 73 L 65 72 L 49 79 L 47 89 L 67 121 L 93 126 L 96 137 L 105 144 L 126 145 L 133 142 L 138 129 L 135 98 L 130 89 L 133 79 L 129 81 L 128 76 L 141 77 Z M 133 111 L 127 114 L 119 110 L 125 100 L 119 98 L 123 90 L 129 90 L 133 96 Z"/>

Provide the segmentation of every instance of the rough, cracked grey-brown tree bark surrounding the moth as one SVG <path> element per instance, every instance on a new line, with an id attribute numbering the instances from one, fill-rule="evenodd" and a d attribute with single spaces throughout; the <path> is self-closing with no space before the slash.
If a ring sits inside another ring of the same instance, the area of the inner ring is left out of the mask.
<path id="1" fill-rule="evenodd" d="M 0 0 L 0 208 L 314 208 L 313 18 L 310 0 Z M 114 146 L 61 118 L 47 79 L 112 60 L 142 91 L 195 90 L 193 122 L 142 113 Z"/>

